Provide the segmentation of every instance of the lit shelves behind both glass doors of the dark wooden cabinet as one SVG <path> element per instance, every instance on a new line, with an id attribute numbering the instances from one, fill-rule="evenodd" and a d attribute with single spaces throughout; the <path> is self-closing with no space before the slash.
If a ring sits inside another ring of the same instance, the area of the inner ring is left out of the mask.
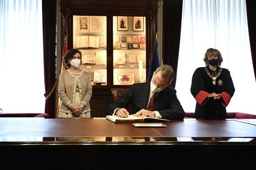
<path id="1" fill-rule="evenodd" d="M 107 85 L 106 16 L 73 16 L 73 48 L 92 85 Z M 113 85 L 146 82 L 146 17 L 113 16 Z"/>

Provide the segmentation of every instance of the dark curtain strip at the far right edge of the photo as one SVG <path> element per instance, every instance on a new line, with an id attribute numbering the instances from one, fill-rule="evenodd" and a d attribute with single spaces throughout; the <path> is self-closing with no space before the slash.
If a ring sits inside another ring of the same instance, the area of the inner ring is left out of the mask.
<path id="1" fill-rule="evenodd" d="M 246 0 L 250 51 L 252 53 L 253 70 L 256 80 L 256 1 Z"/>

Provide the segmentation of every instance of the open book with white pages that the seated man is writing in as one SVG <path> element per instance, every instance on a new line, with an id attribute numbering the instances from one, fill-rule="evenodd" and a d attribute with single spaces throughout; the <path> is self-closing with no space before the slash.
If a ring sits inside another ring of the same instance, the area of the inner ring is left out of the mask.
<path id="1" fill-rule="evenodd" d="M 160 119 L 156 117 L 136 117 L 133 115 L 128 115 L 128 117 L 118 117 L 117 115 L 114 116 L 106 116 L 106 120 L 109 120 L 114 123 L 137 123 L 137 122 L 162 122 L 162 121 L 170 121 L 167 119 Z"/>

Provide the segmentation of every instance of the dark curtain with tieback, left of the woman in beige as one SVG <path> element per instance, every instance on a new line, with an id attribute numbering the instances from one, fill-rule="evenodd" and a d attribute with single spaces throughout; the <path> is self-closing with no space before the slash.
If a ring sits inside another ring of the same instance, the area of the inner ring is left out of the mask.
<path id="1" fill-rule="evenodd" d="M 56 1 L 42 1 L 43 11 L 43 46 L 44 46 L 44 84 L 45 84 L 45 113 L 55 116 L 56 86 L 55 73 L 55 37 L 56 37 Z"/>

